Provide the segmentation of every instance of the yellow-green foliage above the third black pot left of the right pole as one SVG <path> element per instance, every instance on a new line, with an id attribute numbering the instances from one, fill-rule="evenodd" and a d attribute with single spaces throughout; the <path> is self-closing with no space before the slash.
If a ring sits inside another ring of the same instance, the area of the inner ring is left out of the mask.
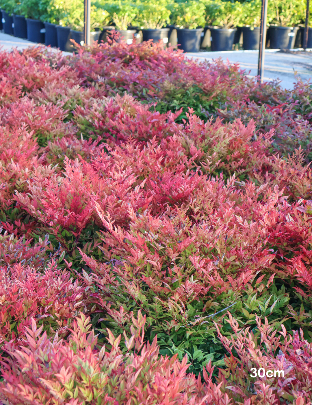
<path id="1" fill-rule="evenodd" d="M 202 2 L 190 0 L 187 2 L 176 3 L 172 11 L 172 23 L 183 29 L 196 29 L 205 26 L 206 7 Z"/>

